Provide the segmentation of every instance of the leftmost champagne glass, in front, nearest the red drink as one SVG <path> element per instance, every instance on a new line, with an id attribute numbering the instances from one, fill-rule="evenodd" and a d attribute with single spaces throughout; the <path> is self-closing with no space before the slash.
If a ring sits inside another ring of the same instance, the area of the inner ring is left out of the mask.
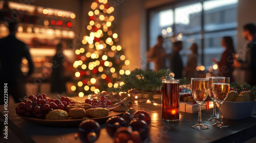
<path id="1" fill-rule="evenodd" d="M 191 78 L 192 85 L 192 96 L 198 104 L 198 124 L 191 125 L 194 129 L 205 130 L 209 129 L 208 126 L 202 124 L 201 109 L 204 100 L 207 97 L 209 90 L 209 79 L 208 78 Z"/>

